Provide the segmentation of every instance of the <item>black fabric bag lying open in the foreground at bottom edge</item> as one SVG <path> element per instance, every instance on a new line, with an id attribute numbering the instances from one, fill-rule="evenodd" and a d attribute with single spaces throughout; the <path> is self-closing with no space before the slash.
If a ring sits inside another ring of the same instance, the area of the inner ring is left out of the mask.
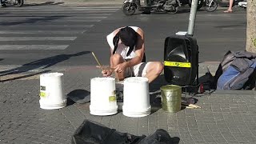
<path id="1" fill-rule="evenodd" d="M 72 144 L 170 144 L 172 139 L 166 130 L 156 130 L 149 136 L 121 133 L 97 122 L 85 120 L 75 130 Z"/>

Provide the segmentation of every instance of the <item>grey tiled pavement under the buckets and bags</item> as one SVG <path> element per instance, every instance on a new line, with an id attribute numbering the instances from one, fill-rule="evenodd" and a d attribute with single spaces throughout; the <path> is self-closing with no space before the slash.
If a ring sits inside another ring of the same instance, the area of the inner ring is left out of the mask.
<path id="1" fill-rule="evenodd" d="M 202 68 L 201 64 L 199 70 L 204 71 Z M 90 78 L 100 75 L 92 66 L 52 70 L 64 73 L 65 94 L 73 90 L 90 91 Z M 0 83 L 0 143 L 70 143 L 74 130 L 85 119 L 135 135 L 152 134 L 162 128 L 178 143 L 256 142 L 254 90 L 198 95 L 194 98 L 198 99 L 201 109 L 183 109 L 176 114 L 154 107 L 152 113 L 143 118 L 129 118 L 122 111 L 111 116 L 94 116 L 90 114 L 90 103 L 69 101 L 68 106 L 59 110 L 40 109 L 39 77 L 26 78 L 26 75 L 19 74 L 18 79 L 15 75 Z M 150 84 L 150 91 L 159 90 L 159 86 L 164 85 L 162 82 L 159 79 Z"/>

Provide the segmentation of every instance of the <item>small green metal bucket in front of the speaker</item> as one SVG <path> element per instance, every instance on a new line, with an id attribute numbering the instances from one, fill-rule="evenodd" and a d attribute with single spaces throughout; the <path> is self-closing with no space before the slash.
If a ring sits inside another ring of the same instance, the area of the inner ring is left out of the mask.
<path id="1" fill-rule="evenodd" d="M 182 87 L 166 85 L 161 88 L 162 110 L 168 113 L 176 113 L 182 107 Z"/>

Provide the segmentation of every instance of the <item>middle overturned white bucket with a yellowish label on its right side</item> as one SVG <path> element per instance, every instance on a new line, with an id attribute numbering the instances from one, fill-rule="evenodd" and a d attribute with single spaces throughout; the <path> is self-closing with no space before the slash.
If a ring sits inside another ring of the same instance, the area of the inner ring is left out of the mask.
<path id="1" fill-rule="evenodd" d="M 114 78 L 90 79 L 90 114 L 112 115 L 117 113 Z"/>

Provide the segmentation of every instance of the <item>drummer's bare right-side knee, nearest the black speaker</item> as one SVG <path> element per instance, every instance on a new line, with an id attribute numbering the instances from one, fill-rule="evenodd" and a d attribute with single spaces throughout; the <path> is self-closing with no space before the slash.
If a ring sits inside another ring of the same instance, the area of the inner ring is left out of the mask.
<path id="1" fill-rule="evenodd" d="M 146 68 L 146 75 L 144 77 L 149 79 L 149 82 L 154 81 L 158 78 L 158 75 L 162 73 L 163 64 L 162 62 L 150 62 Z"/>

